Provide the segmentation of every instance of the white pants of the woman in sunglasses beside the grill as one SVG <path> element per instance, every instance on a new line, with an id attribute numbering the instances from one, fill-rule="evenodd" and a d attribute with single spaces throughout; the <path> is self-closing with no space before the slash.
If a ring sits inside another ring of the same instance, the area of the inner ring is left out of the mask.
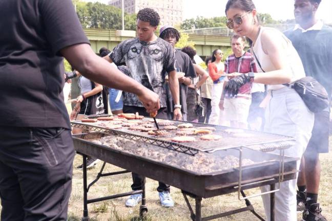
<path id="1" fill-rule="evenodd" d="M 288 87 L 272 91 L 272 98 L 265 111 L 264 131 L 291 136 L 296 139 L 294 146 L 285 150 L 285 156 L 301 159 L 311 137 L 314 126 L 314 114 L 308 110 L 300 96 Z M 276 153 L 279 153 L 277 151 Z M 300 168 L 300 160 L 297 169 Z M 275 194 L 275 220 L 296 221 L 296 183 L 297 179 L 276 185 L 280 188 Z M 261 191 L 269 191 L 269 186 L 261 187 Z M 266 220 L 270 220 L 269 194 L 263 195 Z"/>

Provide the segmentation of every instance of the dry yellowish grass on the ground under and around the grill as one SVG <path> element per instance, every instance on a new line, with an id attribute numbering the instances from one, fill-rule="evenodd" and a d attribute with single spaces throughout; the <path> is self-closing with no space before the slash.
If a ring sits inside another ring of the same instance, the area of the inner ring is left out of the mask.
<path id="1" fill-rule="evenodd" d="M 321 183 L 319 192 L 319 203 L 323 208 L 323 215 L 327 220 L 332 220 L 332 193 L 329 192 L 329 187 L 332 183 L 332 137 L 330 137 L 330 152 L 321 154 Z M 73 185 L 72 194 L 69 203 L 69 217 L 68 221 L 81 220 L 83 208 L 83 192 L 82 192 L 82 171 L 76 169 L 76 166 L 81 164 L 81 156 L 76 155 L 74 160 Z M 88 180 L 94 180 L 96 174 L 99 172 L 102 163 L 99 162 L 95 168 L 88 170 Z M 111 172 L 121 170 L 118 167 L 107 164 L 104 172 Z M 121 174 L 117 176 L 101 178 L 89 191 L 89 198 L 102 197 L 110 194 L 130 191 L 132 182 L 131 174 Z M 175 202 L 173 208 L 163 208 L 160 206 L 158 193 L 156 191 L 158 183 L 156 181 L 147 179 L 147 206 L 148 206 L 148 221 L 190 221 L 190 212 L 186 206 L 181 191 L 174 187 L 171 188 L 172 197 Z M 246 191 L 247 194 L 258 193 L 258 189 Z M 89 204 L 89 215 L 91 221 L 138 221 L 139 206 L 135 208 L 127 208 L 124 202 L 127 197 L 117 198 L 115 200 L 104 201 L 100 203 Z M 251 199 L 255 210 L 264 217 L 263 205 L 260 197 Z M 191 200 L 194 205 L 194 201 Z M 237 199 L 236 193 L 226 194 L 218 197 L 203 199 L 202 201 L 202 216 L 209 216 L 224 211 L 238 209 L 245 206 L 243 201 Z M 1 208 L 1 206 L 0 206 Z M 301 220 L 301 214 L 298 214 L 298 220 Z M 236 215 L 231 215 L 215 220 L 258 220 L 251 212 L 243 212 Z"/>

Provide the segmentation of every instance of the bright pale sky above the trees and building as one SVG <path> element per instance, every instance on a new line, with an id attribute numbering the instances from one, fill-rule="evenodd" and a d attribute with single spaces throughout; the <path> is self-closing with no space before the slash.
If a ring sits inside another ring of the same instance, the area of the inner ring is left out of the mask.
<path id="1" fill-rule="evenodd" d="M 87 2 L 101 2 L 107 4 L 109 0 L 86 0 Z M 253 0 L 259 13 L 271 14 L 275 20 L 293 19 L 293 0 Z M 215 17 L 225 15 L 227 0 L 183 0 L 184 19 L 197 16 Z M 332 24 L 332 0 L 322 0 L 317 15 L 325 23 Z"/>

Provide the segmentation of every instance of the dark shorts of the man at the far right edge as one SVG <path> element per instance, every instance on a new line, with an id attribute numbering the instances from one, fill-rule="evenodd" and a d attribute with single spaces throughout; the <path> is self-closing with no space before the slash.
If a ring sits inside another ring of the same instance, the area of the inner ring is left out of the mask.
<path id="1" fill-rule="evenodd" d="M 312 137 L 305 150 L 308 153 L 327 153 L 329 136 L 329 113 L 322 111 L 315 113 L 315 123 Z"/>

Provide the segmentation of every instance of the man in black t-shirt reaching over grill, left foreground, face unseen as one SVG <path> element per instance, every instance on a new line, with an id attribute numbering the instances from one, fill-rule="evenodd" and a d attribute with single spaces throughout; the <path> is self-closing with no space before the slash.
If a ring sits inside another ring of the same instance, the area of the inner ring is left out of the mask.
<path id="1" fill-rule="evenodd" d="M 74 148 L 63 56 L 91 80 L 137 94 L 148 112 L 159 98 L 92 51 L 71 0 L 0 1 L 0 20 L 0 219 L 65 221 Z"/>

